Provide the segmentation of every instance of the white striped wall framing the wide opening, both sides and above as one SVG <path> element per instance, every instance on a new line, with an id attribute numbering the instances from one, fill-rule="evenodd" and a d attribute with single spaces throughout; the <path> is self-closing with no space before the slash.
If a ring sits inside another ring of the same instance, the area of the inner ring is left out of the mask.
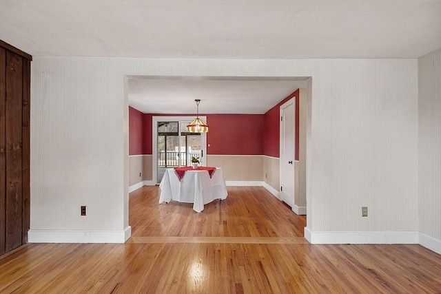
<path id="1" fill-rule="evenodd" d="M 123 76 L 312 76 L 307 229 L 418 231 L 418 61 L 34 57 L 31 229 L 127 228 Z M 309 95 L 308 95 L 309 96 Z M 79 217 L 87 204 L 89 215 Z M 361 217 L 361 207 L 369 217 Z"/>

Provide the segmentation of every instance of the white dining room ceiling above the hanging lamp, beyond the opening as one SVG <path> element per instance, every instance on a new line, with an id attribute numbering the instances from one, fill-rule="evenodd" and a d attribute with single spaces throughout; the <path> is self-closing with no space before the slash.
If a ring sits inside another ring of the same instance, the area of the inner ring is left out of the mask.
<path id="1" fill-rule="evenodd" d="M 143 113 L 265 114 L 307 78 L 130 78 L 129 104 Z"/>

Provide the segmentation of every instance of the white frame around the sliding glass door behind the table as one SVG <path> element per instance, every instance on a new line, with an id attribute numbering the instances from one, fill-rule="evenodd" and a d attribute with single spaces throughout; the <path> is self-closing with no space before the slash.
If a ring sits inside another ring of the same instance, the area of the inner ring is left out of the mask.
<path id="1" fill-rule="evenodd" d="M 201 120 L 207 121 L 207 116 L 199 116 Z M 152 182 L 157 184 L 158 171 L 158 123 L 167 121 L 177 121 L 179 123 L 194 120 L 193 116 L 153 116 L 152 117 Z M 201 149 L 203 150 L 203 158 L 201 158 L 201 165 L 206 165 L 207 160 L 207 133 L 201 133 Z"/>

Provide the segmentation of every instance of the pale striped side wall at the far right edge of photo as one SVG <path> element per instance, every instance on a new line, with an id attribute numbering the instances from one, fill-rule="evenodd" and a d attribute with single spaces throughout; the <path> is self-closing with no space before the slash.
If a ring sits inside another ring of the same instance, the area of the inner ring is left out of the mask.
<path id="1" fill-rule="evenodd" d="M 418 60 L 418 90 L 420 231 L 441 240 L 441 50 Z"/>

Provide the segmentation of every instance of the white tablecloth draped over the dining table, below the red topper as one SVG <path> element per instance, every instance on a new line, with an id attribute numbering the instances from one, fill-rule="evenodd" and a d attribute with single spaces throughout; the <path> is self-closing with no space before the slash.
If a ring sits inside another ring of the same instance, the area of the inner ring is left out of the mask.
<path id="1" fill-rule="evenodd" d="M 159 204 L 164 201 L 168 203 L 170 200 L 193 203 L 193 209 L 197 212 L 203 211 L 204 204 L 215 199 L 227 198 L 223 172 L 217 167 L 212 178 L 209 177 L 208 171 L 189 170 L 185 171 L 181 181 L 174 169 L 167 169 L 159 187 Z"/>

